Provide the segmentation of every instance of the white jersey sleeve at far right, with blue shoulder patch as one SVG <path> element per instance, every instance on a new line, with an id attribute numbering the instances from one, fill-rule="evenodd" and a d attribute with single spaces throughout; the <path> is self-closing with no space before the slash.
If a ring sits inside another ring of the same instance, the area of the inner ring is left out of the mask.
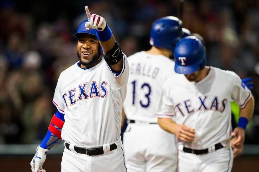
<path id="1" fill-rule="evenodd" d="M 232 88 L 231 98 L 239 105 L 240 108 L 244 108 L 247 104 L 247 101 L 251 98 L 252 93 L 237 74 L 234 73 L 234 77 L 235 80 Z"/>

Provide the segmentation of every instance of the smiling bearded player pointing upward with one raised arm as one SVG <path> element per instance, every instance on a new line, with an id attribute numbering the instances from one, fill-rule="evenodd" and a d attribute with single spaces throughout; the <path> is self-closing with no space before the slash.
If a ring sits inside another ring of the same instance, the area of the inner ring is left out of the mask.
<path id="1" fill-rule="evenodd" d="M 88 20 L 74 34 L 79 61 L 60 74 L 57 112 L 32 159 L 33 172 L 45 171 L 46 153 L 60 139 L 61 172 L 127 171 L 120 121 L 129 65 L 105 19 L 85 9 Z"/>

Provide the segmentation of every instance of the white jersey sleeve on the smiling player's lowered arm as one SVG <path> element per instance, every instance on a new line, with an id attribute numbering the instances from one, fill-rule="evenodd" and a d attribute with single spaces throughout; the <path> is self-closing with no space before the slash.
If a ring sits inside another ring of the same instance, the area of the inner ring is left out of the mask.
<path id="1" fill-rule="evenodd" d="M 65 114 L 65 105 L 61 94 L 61 76 L 58 78 L 52 102 L 60 113 Z"/>

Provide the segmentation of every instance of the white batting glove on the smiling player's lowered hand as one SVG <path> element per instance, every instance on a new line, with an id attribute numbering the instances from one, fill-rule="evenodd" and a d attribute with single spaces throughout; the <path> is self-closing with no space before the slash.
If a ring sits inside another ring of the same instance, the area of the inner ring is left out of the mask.
<path id="1" fill-rule="evenodd" d="M 43 149 L 40 146 L 37 147 L 36 154 L 31 161 L 32 172 L 46 172 L 46 170 L 43 170 L 42 165 L 46 160 L 46 154 L 48 151 L 48 149 Z"/>

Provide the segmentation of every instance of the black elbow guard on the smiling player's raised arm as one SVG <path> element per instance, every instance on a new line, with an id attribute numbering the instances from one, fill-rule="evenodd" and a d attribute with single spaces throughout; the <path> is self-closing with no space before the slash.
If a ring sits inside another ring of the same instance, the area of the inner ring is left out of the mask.
<path id="1" fill-rule="evenodd" d="M 103 56 L 106 63 L 109 65 L 114 65 L 118 63 L 123 57 L 119 43 L 116 41 L 114 47 Z"/>

